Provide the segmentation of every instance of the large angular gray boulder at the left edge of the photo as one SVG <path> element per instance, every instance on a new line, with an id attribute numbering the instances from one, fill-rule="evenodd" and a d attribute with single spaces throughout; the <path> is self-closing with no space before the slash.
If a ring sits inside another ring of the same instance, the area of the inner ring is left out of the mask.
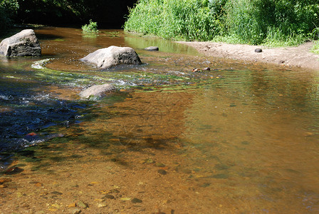
<path id="1" fill-rule="evenodd" d="M 41 46 L 32 29 L 26 29 L 0 43 L 3 56 L 41 56 Z"/>

